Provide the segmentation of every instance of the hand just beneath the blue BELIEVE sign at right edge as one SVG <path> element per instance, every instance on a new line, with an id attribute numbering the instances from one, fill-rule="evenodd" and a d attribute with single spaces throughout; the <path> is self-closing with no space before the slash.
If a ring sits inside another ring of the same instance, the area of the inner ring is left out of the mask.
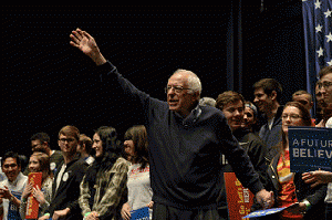
<path id="1" fill-rule="evenodd" d="M 305 184 L 311 184 L 311 187 L 317 187 L 319 185 L 332 182 L 332 172 L 317 170 L 302 174 L 302 179 Z"/>

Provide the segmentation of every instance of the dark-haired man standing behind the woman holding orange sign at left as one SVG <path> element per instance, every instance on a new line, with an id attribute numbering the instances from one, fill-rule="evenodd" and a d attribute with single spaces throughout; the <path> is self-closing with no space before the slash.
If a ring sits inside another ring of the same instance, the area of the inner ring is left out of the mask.
<path id="1" fill-rule="evenodd" d="M 50 167 L 53 174 L 56 172 L 59 165 L 63 163 L 63 156 L 60 150 L 51 149 L 50 136 L 46 133 L 37 133 L 31 136 L 31 150 L 34 153 L 38 149 L 44 150 L 50 157 Z M 27 169 L 25 174 L 29 174 Z"/>

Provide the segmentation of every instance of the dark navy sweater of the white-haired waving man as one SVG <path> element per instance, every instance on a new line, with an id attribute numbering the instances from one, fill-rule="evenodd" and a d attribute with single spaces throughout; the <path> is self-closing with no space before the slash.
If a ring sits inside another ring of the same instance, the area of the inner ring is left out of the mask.
<path id="1" fill-rule="evenodd" d="M 138 91 L 110 62 L 98 72 L 105 90 L 137 109 L 146 126 L 153 201 L 181 209 L 216 208 L 221 154 L 245 187 L 253 193 L 263 188 L 219 109 L 197 106 L 181 118 L 166 102 Z"/>

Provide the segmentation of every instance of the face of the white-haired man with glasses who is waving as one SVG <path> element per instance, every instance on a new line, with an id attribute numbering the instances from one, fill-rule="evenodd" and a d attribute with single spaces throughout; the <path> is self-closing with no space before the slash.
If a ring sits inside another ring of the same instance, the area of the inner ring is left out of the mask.
<path id="1" fill-rule="evenodd" d="M 189 92 L 187 85 L 188 74 L 176 73 L 167 83 L 167 103 L 170 111 L 179 113 L 181 116 L 188 116 L 197 102 L 198 95 Z"/>

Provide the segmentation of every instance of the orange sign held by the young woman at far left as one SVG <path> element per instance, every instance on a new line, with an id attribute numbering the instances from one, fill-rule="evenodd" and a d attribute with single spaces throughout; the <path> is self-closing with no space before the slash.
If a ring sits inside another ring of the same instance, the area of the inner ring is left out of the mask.
<path id="1" fill-rule="evenodd" d="M 42 172 L 30 172 L 28 181 L 33 185 L 33 188 L 37 188 L 38 186 L 41 189 Z M 38 212 L 39 202 L 33 195 L 30 193 L 27 201 L 25 219 L 38 219 Z"/>

